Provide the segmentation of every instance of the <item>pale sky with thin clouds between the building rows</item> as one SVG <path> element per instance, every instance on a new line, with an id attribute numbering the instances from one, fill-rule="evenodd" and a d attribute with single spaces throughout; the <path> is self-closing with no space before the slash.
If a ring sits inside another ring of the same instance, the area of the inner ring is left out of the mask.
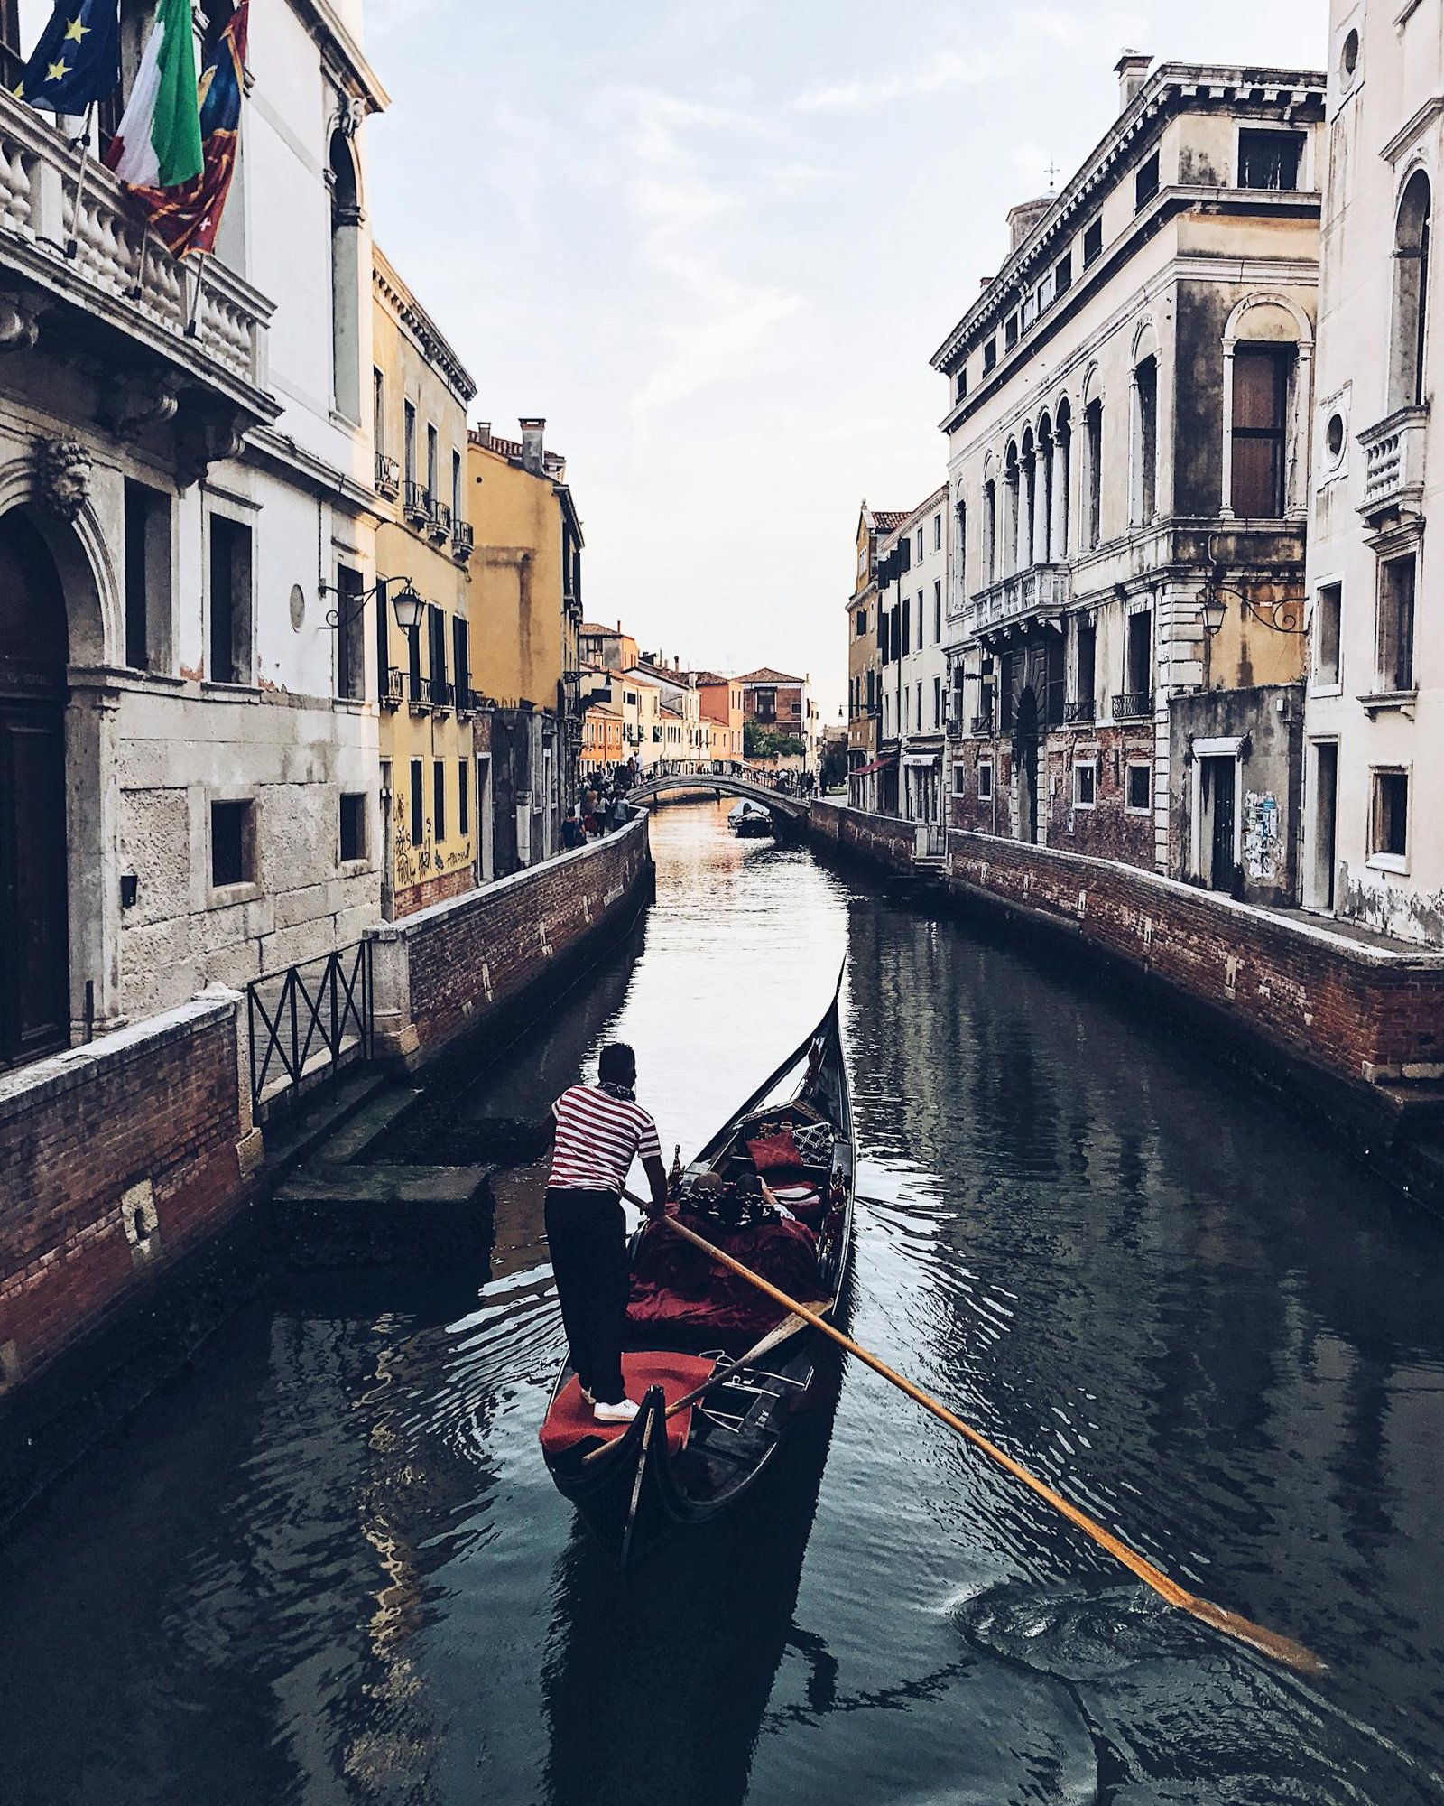
<path id="1" fill-rule="evenodd" d="M 946 479 L 928 359 L 1117 112 L 1112 65 L 1321 69 L 1327 0 L 366 0 L 370 220 L 547 417 L 588 619 L 847 694 L 857 509 Z"/>

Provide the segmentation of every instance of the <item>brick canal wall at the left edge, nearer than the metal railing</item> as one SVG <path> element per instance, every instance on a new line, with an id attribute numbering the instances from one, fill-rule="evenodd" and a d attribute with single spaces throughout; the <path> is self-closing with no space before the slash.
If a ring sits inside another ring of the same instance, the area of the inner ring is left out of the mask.
<path id="1" fill-rule="evenodd" d="M 0 1078 L 0 1392 L 245 1201 L 236 1020 L 204 997 Z"/>

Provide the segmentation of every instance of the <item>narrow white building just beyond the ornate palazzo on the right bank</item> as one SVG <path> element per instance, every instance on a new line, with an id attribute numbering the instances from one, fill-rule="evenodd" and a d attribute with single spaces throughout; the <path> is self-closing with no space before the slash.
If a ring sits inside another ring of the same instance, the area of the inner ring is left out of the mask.
<path id="1" fill-rule="evenodd" d="M 919 502 L 881 542 L 877 638 L 883 674 L 883 746 L 895 769 L 879 773 L 886 807 L 908 822 L 946 822 L 948 721 L 948 484 Z"/>

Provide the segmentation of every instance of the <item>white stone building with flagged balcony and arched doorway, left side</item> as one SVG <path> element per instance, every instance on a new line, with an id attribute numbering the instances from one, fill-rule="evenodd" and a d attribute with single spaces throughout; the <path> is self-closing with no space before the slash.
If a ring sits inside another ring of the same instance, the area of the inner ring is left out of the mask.
<path id="1" fill-rule="evenodd" d="M 374 603 L 327 621 L 374 582 L 357 29 L 253 9 L 200 269 L 0 92 L 0 1067 L 377 919 Z"/>

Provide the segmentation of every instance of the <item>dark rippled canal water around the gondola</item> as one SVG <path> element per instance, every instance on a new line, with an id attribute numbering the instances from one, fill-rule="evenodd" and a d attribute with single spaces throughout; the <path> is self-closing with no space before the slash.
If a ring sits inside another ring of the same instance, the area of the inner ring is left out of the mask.
<path id="1" fill-rule="evenodd" d="M 599 1042 L 695 1149 L 847 957 L 854 1335 L 1199 1593 L 1164 1607 L 893 1394 L 614 1575 L 536 1427 L 540 1167 L 477 1295 L 294 1280 L 0 1551 L 0 1799 L 1444 1799 L 1442 1232 L 1166 1024 L 807 852 L 662 811 L 657 907 L 451 1138 Z"/>

